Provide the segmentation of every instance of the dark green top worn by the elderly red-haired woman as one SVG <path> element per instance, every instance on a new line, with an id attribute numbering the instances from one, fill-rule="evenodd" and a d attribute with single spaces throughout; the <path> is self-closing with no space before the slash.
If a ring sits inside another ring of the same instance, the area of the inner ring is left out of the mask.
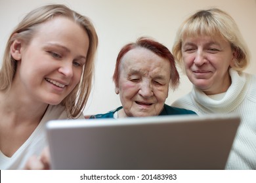
<path id="1" fill-rule="evenodd" d="M 105 114 L 96 114 L 91 116 L 90 118 L 114 118 L 114 113 L 120 110 L 123 107 L 118 107 L 115 110 L 111 110 L 110 112 L 107 112 Z M 164 116 L 164 115 L 181 115 L 181 114 L 196 114 L 196 112 L 192 110 L 187 110 L 185 108 L 177 108 L 177 107 L 171 107 L 169 105 L 163 105 L 163 110 L 158 116 Z"/>

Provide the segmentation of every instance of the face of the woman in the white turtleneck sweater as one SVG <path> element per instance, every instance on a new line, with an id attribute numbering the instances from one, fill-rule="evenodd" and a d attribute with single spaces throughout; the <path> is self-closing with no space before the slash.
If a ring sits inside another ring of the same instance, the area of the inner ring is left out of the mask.
<path id="1" fill-rule="evenodd" d="M 223 93 L 231 84 L 228 69 L 234 51 L 221 37 L 184 37 L 182 59 L 189 80 L 207 95 Z"/>

